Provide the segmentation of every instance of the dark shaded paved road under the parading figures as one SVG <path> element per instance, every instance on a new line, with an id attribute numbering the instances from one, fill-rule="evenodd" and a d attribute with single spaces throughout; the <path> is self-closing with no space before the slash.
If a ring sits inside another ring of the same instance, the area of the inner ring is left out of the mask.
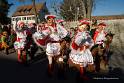
<path id="1" fill-rule="evenodd" d="M 36 53 L 37 59 L 30 62 L 29 65 L 25 66 L 17 63 L 17 56 L 14 53 L 5 55 L 3 51 L 0 51 L 0 83 L 77 83 L 76 71 L 68 70 L 65 78 L 59 78 L 57 75 L 57 69 L 52 78 L 48 77 L 47 71 L 47 59 L 43 56 L 40 51 Z M 89 79 L 101 78 L 117 78 L 123 79 L 124 75 L 120 69 L 115 69 L 109 74 L 91 74 L 87 73 Z"/>

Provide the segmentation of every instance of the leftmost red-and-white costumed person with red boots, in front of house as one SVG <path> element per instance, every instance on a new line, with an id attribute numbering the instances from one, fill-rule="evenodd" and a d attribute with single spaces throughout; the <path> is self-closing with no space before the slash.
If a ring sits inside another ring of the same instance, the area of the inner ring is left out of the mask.
<path id="1" fill-rule="evenodd" d="M 15 27 L 15 32 L 17 37 L 14 43 L 14 48 L 18 54 L 18 62 L 22 62 L 22 59 L 21 59 L 22 55 L 24 55 L 24 60 L 26 60 L 26 52 L 24 52 L 24 50 L 26 46 L 27 31 L 26 31 L 24 22 L 19 21 L 17 25 L 18 26 Z M 22 54 L 22 51 L 24 52 L 23 54 Z"/>

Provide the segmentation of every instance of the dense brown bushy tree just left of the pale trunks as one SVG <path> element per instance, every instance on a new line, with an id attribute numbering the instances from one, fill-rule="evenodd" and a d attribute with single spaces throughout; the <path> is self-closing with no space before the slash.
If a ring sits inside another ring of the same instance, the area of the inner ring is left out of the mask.
<path id="1" fill-rule="evenodd" d="M 60 6 L 60 15 L 65 20 L 77 20 L 77 13 L 78 15 L 82 14 L 82 7 L 79 1 L 80 0 L 63 0 Z"/>

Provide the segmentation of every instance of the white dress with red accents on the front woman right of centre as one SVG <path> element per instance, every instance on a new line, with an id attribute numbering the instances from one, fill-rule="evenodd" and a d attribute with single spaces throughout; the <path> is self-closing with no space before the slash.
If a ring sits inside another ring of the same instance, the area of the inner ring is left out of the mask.
<path id="1" fill-rule="evenodd" d="M 93 40 L 87 31 L 78 32 L 71 45 L 70 60 L 83 67 L 93 64 L 93 57 L 89 49 L 93 45 Z M 90 47 L 86 48 L 86 46 Z"/>

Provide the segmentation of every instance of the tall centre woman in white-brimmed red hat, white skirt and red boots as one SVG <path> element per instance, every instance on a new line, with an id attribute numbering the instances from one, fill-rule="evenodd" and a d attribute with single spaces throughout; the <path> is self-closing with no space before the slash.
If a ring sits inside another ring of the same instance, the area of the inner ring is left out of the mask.
<path id="1" fill-rule="evenodd" d="M 67 35 L 66 29 L 55 23 L 56 16 L 54 15 L 46 15 L 47 20 L 47 28 L 49 30 L 49 42 L 47 43 L 46 47 L 46 54 L 48 57 L 49 65 L 48 65 L 48 72 L 52 74 L 52 62 L 53 58 L 60 55 L 60 40 Z"/>

